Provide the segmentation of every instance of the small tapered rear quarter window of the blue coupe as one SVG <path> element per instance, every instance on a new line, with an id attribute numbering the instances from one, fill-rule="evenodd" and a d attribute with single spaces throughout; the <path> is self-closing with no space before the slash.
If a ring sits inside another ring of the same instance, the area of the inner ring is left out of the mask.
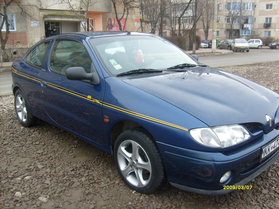
<path id="1" fill-rule="evenodd" d="M 48 45 L 49 41 L 38 45 L 29 53 L 29 55 L 26 58 L 26 61 L 37 67 L 42 67 L 45 51 L 48 48 Z"/>

